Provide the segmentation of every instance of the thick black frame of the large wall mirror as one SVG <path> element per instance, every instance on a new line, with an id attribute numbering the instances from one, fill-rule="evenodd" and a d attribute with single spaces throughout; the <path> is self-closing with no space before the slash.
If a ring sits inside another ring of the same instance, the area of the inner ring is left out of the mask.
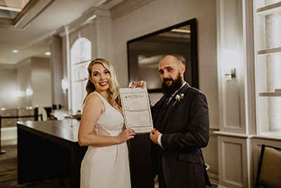
<path id="1" fill-rule="evenodd" d="M 130 44 L 134 44 L 136 42 L 140 42 L 144 39 L 148 39 L 150 37 L 155 37 L 159 34 L 163 34 L 164 32 L 170 32 L 172 29 L 178 28 L 178 27 L 183 27 L 185 25 L 190 25 L 190 58 L 191 58 L 191 79 L 192 82 L 188 82 L 188 80 L 185 79 L 192 87 L 195 87 L 199 89 L 199 84 L 198 84 L 198 57 L 197 57 L 197 23 L 196 23 L 196 18 L 193 18 L 191 20 L 185 21 L 183 23 L 178 23 L 176 25 L 172 25 L 170 27 L 166 27 L 162 30 L 158 30 L 156 32 L 152 32 L 148 35 L 144 35 L 142 37 L 138 37 L 136 39 L 129 40 L 127 42 L 127 58 L 128 58 L 128 70 L 129 70 L 129 82 L 132 81 L 138 81 L 135 80 L 136 77 L 133 76 L 133 68 L 138 68 L 138 65 L 136 65 L 135 62 L 130 61 Z M 187 68 L 187 66 L 186 66 Z M 157 72 L 157 74 L 159 74 Z M 185 78 L 187 75 L 187 71 L 185 69 Z M 160 79 L 160 77 L 159 77 Z M 161 88 L 157 89 L 148 89 L 148 92 L 162 92 Z"/>

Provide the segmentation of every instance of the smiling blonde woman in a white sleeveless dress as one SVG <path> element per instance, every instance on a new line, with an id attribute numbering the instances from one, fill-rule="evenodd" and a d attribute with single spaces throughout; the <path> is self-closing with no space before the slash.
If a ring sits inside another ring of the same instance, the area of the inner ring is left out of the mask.
<path id="1" fill-rule="evenodd" d="M 88 72 L 78 140 L 89 148 L 81 163 L 80 187 L 131 187 L 126 141 L 135 132 L 124 130 L 115 70 L 107 60 L 96 58 Z"/>

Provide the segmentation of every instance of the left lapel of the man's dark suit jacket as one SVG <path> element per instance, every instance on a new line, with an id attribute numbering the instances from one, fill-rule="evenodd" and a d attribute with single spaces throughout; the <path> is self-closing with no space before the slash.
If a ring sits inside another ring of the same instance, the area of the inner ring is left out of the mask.
<path id="1" fill-rule="evenodd" d="M 178 92 L 176 92 L 176 94 L 171 99 L 171 101 L 169 101 L 169 104 L 167 106 L 166 112 L 164 112 L 163 115 L 161 115 L 162 117 L 158 121 L 158 122 L 161 122 L 162 131 L 164 130 L 164 126 L 166 125 L 166 121 L 171 116 L 171 113 L 174 111 L 176 106 L 178 106 L 178 104 L 180 103 L 180 101 L 176 101 L 176 99 L 175 99 L 176 95 L 180 94 L 180 93 L 185 94 L 185 92 L 188 90 L 188 88 L 190 88 L 190 86 L 189 86 L 188 83 L 186 83 L 180 90 L 178 90 Z M 185 96 L 187 96 L 187 95 L 185 94 Z"/>

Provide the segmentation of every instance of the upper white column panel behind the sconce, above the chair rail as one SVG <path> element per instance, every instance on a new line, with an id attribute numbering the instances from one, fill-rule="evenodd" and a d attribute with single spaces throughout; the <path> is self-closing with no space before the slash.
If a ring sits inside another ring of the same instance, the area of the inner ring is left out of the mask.
<path id="1" fill-rule="evenodd" d="M 220 130 L 247 134 L 242 0 L 217 0 L 216 9 Z M 237 77 L 226 81 L 225 71 L 230 68 L 237 70 Z"/>

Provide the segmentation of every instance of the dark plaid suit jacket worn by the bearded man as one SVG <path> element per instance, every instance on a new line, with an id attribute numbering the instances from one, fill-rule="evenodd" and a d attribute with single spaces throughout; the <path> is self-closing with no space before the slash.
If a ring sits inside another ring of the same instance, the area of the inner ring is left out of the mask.
<path id="1" fill-rule="evenodd" d="M 154 173 L 162 170 L 164 178 L 158 179 L 167 187 L 206 187 L 206 184 L 211 184 L 201 148 L 209 142 L 207 99 L 188 84 L 174 96 L 181 93 L 183 99 L 176 101 L 172 98 L 166 109 L 163 108 L 165 95 L 151 108 L 153 124 L 163 134 L 161 142 L 164 148 L 152 144 L 153 170 Z"/>

